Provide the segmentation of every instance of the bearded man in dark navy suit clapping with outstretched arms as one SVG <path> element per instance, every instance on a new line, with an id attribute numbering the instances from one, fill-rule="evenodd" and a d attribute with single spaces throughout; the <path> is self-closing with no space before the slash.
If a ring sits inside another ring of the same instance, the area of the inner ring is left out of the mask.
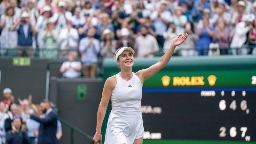
<path id="1" fill-rule="evenodd" d="M 45 114 L 44 118 L 40 118 L 30 111 L 25 111 L 25 113 L 30 115 L 30 118 L 40 123 L 38 144 L 58 144 L 56 138 L 57 131 L 57 120 L 58 115 L 52 110 L 50 102 L 45 100 L 40 103 L 40 109 Z"/>

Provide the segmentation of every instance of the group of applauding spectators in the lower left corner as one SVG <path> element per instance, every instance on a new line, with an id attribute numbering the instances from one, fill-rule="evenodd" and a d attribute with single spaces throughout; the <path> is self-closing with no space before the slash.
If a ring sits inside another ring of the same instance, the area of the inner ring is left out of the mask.
<path id="1" fill-rule="evenodd" d="M 47 138 L 51 144 L 58 143 L 51 142 L 62 137 L 61 123 L 52 102 L 44 100 L 38 107 L 29 95 L 28 99 L 18 98 L 19 104 L 16 104 L 9 88 L 4 89 L 3 97 L 0 101 L 0 144 L 45 144 Z"/>

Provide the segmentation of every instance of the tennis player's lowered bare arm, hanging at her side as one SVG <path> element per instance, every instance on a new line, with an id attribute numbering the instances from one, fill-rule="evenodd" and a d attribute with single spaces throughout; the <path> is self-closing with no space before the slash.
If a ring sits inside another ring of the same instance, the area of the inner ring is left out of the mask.
<path id="1" fill-rule="evenodd" d="M 102 91 L 102 97 L 101 97 L 101 101 L 100 101 L 98 113 L 97 113 L 96 134 L 93 137 L 93 140 L 95 143 L 97 143 L 98 141 L 100 143 L 102 142 L 101 126 L 103 123 L 103 119 L 105 117 L 107 106 L 109 104 L 109 99 L 112 94 L 112 90 L 114 89 L 114 87 L 116 85 L 115 79 L 116 79 L 115 76 L 110 77 L 106 80 L 106 82 L 104 84 L 104 88 Z"/>

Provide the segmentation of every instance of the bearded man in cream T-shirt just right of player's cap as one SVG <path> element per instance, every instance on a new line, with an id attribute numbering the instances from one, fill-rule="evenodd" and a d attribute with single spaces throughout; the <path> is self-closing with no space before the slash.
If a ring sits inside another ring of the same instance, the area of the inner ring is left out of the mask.
<path id="1" fill-rule="evenodd" d="M 141 35 L 135 39 L 134 49 L 138 57 L 154 57 L 159 51 L 157 40 L 154 36 L 148 34 L 147 27 L 141 27 Z"/>

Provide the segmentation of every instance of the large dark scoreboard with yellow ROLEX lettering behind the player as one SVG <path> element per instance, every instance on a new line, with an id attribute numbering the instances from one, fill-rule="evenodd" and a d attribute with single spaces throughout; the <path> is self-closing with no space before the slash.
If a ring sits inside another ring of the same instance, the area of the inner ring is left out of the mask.
<path id="1" fill-rule="evenodd" d="M 158 59 L 135 59 L 134 72 Z M 141 103 L 144 144 L 256 143 L 256 57 L 173 57 Z"/>

